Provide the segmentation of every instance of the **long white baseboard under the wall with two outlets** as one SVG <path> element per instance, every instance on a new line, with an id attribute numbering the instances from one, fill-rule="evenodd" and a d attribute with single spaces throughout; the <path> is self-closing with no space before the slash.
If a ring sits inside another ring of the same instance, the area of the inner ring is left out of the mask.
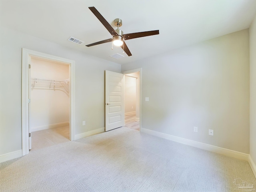
<path id="1" fill-rule="evenodd" d="M 157 136 L 157 137 L 161 137 L 164 139 L 168 139 L 168 140 L 172 140 L 178 143 L 182 143 L 182 144 L 186 144 L 189 146 L 193 146 L 196 148 L 200 148 L 200 149 L 204 149 L 204 150 L 208 150 L 211 152 L 215 152 L 215 153 L 219 153 L 219 154 L 223 154 L 229 157 L 234 157 L 240 160 L 245 160 L 248 161 L 249 160 L 249 154 L 246 153 L 242 153 L 242 152 L 238 152 L 238 151 L 234 151 L 234 150 L 230 150 L 230 149 L 226 149 L 226 148 L 221 148 L 221 147 L 217 147 L 214 145 L 209 145 L 209 144 L 205 144 L 205 143 L 201 143 L 201 142 L 197 142 L 197 141 L 193 141 L 193 140 L 188 140 L 188 139 L 184 139 L 184 138 L 180 138 L 180 137 L 176 137 L 176 136 L 172 136 L 172 135 L 168 135 L 168 134 L 164 134 L 164 133 L 160 133 L 160 132 L 156 132 L 156 131 L 152 131 L 152 130 L 148 130 L 145 128 L 141 128 L 141 132 L 143 133 L 147 133 L 153 136 Z"/>

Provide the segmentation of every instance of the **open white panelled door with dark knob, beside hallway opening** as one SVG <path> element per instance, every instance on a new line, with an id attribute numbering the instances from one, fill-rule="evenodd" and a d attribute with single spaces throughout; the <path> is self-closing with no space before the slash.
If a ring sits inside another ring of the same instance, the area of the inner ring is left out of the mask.
<path id="1" fill-rule="evenodd" d="M 123 74 L 105 71 L 105 131 L 124 124 L 123 79 Z"/>

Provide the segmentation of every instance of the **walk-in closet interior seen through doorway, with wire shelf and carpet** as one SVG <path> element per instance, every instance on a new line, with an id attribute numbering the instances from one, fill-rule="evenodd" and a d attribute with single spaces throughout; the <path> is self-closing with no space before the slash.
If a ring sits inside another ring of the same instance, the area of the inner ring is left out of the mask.
<path id="1" fill-rule="evenodd" d="M 30 57 L 30 149 L 37 150 L 70 140 L 70 67 Z"/>

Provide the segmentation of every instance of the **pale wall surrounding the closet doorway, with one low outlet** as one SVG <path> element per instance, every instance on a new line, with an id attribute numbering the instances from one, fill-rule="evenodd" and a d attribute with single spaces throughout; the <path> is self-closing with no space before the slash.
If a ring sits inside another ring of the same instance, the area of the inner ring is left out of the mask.
<path id="1" fill-rule="evenodd" d="M 121 67 L 119 64 L 1 27 L 0 155 L 21 150 L 22 147 L 22 47 L 74 60 L 75 134 L 104 127 L 104 70 L 120 72 Z M 86 120 L 86 126 L 82 126 L 83 120 Z"/>

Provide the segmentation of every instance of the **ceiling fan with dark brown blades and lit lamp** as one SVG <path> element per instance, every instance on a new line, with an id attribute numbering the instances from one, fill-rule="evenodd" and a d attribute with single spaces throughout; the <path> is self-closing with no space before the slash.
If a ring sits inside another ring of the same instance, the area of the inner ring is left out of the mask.
<path id="1" fill-rule="evenodd" d="M 121 19 L 117 18 L 114 20 L 115 26 L 117 26 L 117 29 L 114 30 L 112 28 L 112 26 L 106 21 L 106 19 L 100 14 L 100 12 L 98 12 L 98 10 L 96 10 L 95 7 L 89 7 L 89 9 L 98 18 L 98 20 L 100 20 L 100 22 L 106 27 L 106 29 L 110 32 L 110 34 L 113 37 L 110 39 L 96 42 L 96 43 L 88 44 L 88 45 L 86 45 L 87 47 L 102 44 L 102 43 L 112 42 L 112 44 L 114 44 L 116 46 L 120 46 L 124 50 L 124 52 L 126 52 L 126 54 L 128 56 L 132 56 L 132 54 L 131 54 L 130 50 L 128 49 L 124 40 L 159 34 L 159 30 L 123 34 L 123 31 L 119 29 L 119 27 L 122 26 Z M 112 49 L 113 49 L 113 47 L 112 47 Z"/>

